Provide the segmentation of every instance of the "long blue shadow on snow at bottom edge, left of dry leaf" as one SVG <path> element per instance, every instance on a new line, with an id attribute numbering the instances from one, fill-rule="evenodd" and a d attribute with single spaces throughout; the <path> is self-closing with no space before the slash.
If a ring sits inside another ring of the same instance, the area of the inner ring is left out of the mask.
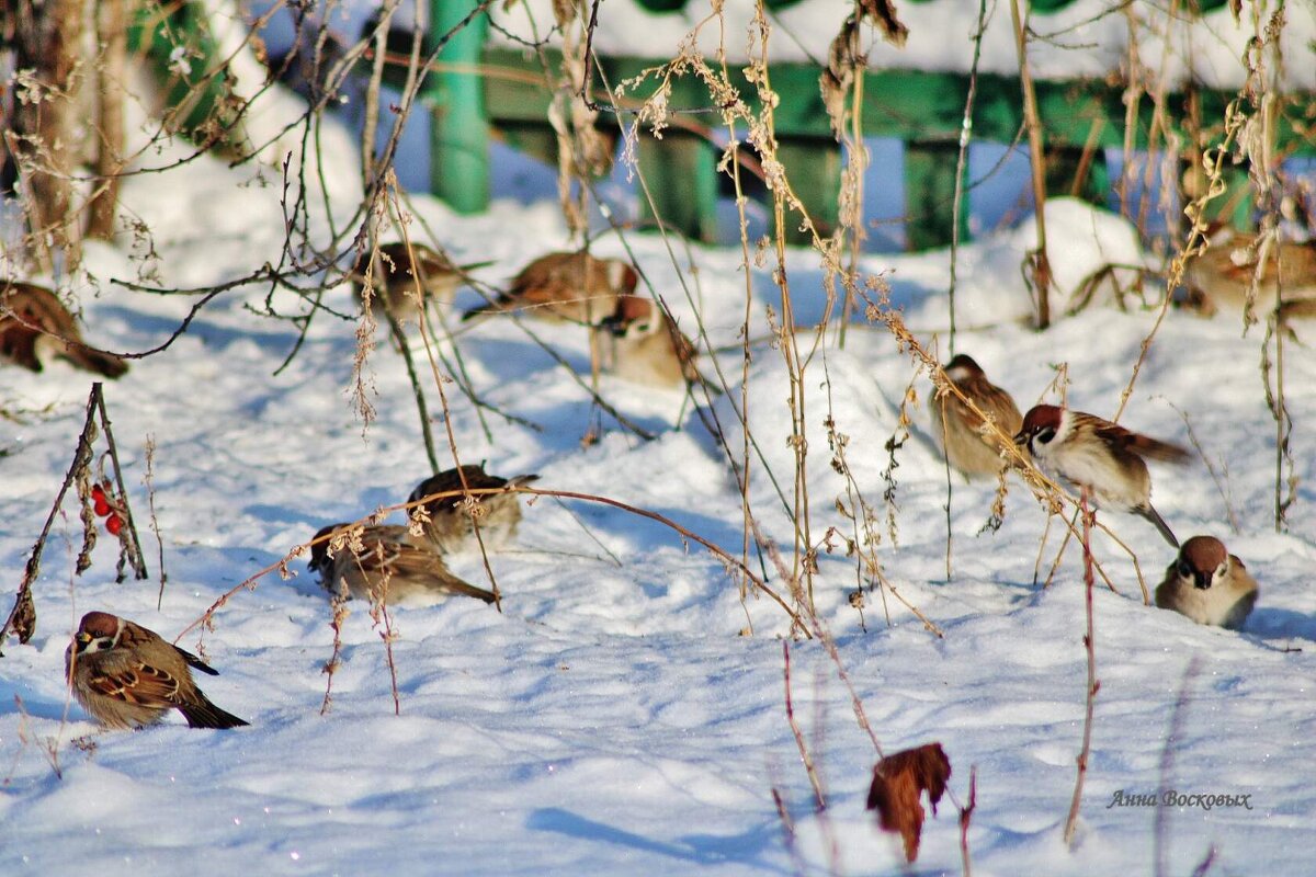
<path id="1" fill-rule="evenodd" d="M 751 828 L 740 835 L 686 835 L 679 839 L 679 843 L 665 843 L 601 822 L 586 819 L 570 810 L 541 807 L 530 814 L 530 818 L 526 820 L 526 828 L 551 831 L 579 840 L 599 840 L 637 852 L 655 853 L 679 861 L 688 861 L 695 865 L 720 865 L 736 861 L 751 865 L 763 870 L 763 873 L 788 873 L 786 869 L 761 859 L 763 851 L 772 844 L 774 839 L 779 838 L 779 827 L 771 823 Z"/>

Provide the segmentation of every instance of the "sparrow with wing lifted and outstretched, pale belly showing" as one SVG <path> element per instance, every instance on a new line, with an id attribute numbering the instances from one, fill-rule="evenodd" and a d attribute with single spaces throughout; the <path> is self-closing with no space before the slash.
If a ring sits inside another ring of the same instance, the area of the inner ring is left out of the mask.
<path id="1" fill-rule="evenodd" d="M 1174 533 L 1152 508 L 1152 476 L 1142 458 L 1183 463 L 1188 452 L 1182 447 L 1054 405 L 1032 408 L 1015 443 L 1026 444 L 1044 469 L 1086 490 L 1099 508 L 1141 515 L 1155 525 L 1166 542 L 1179 547 Z"/>

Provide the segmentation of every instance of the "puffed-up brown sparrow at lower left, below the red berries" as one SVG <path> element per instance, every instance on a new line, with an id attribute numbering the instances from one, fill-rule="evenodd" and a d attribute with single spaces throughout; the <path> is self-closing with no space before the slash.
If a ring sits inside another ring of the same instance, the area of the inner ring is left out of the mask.
<path id="1" fill-rule="evenodd" d="M 155 724 L 170 710 L 182 713 L 193 728 L 246 724 L 207 699 L 190 667 L 218 675 L 196 655 L 109 613 L 83 615 L 64 651 L 64 676 L 74 696 L 105 727 Z"/>

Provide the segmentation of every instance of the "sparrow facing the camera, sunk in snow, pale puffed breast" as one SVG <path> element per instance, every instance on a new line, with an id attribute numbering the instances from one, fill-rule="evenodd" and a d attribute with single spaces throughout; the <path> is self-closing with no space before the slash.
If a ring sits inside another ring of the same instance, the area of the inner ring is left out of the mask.
<path id="1" fill-rule="evenodd" d="M 1242 560 L 1225 551 L 1224 543 L 1215 536 L 1192 536 L 1166 568 L 1155 605 L 1199 625 L 1240 630 L 1257 605 L 1258 590 Z"/>

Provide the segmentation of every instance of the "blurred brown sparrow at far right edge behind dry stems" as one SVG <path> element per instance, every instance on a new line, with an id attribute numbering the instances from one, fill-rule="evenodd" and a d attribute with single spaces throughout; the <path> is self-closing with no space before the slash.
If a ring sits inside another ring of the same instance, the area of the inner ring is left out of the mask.
<path id="1" fill-rule="evenodd" d="M 1184 267 L 1188 305 L 1208 317 L 1217 310 L 1241 314 L 1261 258 L 1257 235 L 1223 229 L 1211 237 L 1209 245 L 1205 252 L 1190 259 Z M 1274 249 L 1266 256 L 1253 313 L 1265 320 L 1274 310 L 1282 287 L 1282 316 L 1316 316 L 1316 243 L 1279 241 L 1274 247 L 1278 249 L 1278 259 Z"/>

